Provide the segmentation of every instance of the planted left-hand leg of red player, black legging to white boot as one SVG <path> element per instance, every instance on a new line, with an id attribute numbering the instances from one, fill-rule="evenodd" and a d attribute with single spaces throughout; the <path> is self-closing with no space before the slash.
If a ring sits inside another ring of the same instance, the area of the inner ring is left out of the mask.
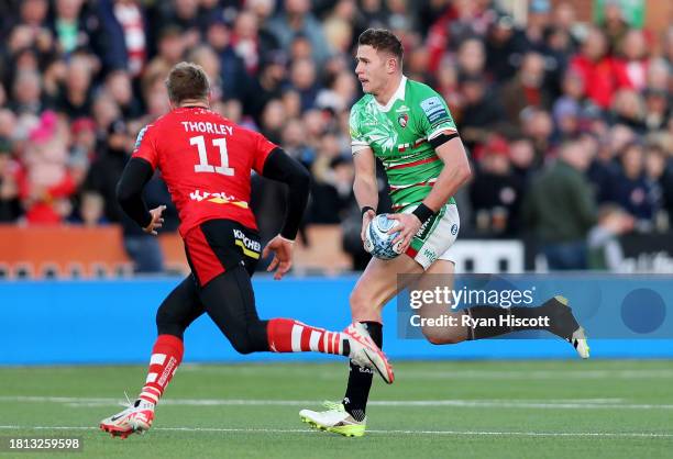
<path id="1" fill-rule="evenodd" d="M 135 402 L 100 422 L 102 430 L 126 438 L 133 433 L 143 434 L 150 429 L 154 421 L 154 407 L 183 361 L 183 334 L 202 313 L 196 279 L 188 276 L 157 310 L 158 337 L 152 348 L 145 385 Z"/>

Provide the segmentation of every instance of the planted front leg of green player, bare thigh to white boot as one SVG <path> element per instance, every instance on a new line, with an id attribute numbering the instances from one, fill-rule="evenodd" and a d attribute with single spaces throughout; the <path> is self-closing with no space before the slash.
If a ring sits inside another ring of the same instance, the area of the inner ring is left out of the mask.
<path id="1" fill-rule="evenodd" d="M 383 306 L 398 291 L 398 273 L 420 273 L 422 268 L 413 259 L 402 256 L 391 260 L 373 258 L 351 293 L 353 322 L 367 327 L 372 339 L 383 346 Z M 350 362 L 349 383 L 342 403 L 326 402 L 327 411 L 301 410 L 301 421 L 316 428 L 345 436 L 362 436 L 366 427 L 366 404 L 373 374 L 354 361 Z"/>

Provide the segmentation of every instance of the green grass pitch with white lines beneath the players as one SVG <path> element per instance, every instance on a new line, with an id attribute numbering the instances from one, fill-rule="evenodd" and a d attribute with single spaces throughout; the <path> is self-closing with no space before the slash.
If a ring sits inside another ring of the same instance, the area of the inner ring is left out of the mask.
<path id="1" fill-rule="evenodd" d="M 338 363 L 185 365 L 152 430 L 97 429 L 145 368 L 0 368 L 0 437 L 79 437 L 45 458 L 664 458 L 673 455 L 673 361 L 397 362 L 375 381 L 365 437 L 299 422 L 343 395 Z"/>

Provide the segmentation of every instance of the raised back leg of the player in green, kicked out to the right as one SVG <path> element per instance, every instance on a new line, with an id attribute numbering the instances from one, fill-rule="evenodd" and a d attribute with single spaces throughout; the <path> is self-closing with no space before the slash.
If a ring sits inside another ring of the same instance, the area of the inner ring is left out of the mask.
<path id="1" fill-rule="evenodd" d="M 421 276 L 417 289 L 432 291 L 435 287 L 453 287 L 453 262 L 437 260 L 426 273 Z M 441 284 L 441 286 L 440 286 Z M 423 323 L 428 318 L 437 320 L 440 316 L 455 317 L 455 326 L 423 326 L 422 332 L 428 342 L 437 345 L 456 344 L 464 340 L 475 340 L 506 335 L 526 329 L 545 329 L 572 344 L 583 359 L 589 357 L 584 328 L 580 326 L 567 300 L 554 296 L 537 307 L 500 307 L 500 306 L 472 306 L 463 311 L 449 312 L 445 304 L 424 304 L 419 315 Z M 509 325 L 514 320 L 549 317 L 539 325 Z M 479 323 L 495 322 L 496 326 L 481 326 Z M 438 322 L 435 322 L 438 323 Z M 503 324 L 503 325 L 499 325 Z"/>

